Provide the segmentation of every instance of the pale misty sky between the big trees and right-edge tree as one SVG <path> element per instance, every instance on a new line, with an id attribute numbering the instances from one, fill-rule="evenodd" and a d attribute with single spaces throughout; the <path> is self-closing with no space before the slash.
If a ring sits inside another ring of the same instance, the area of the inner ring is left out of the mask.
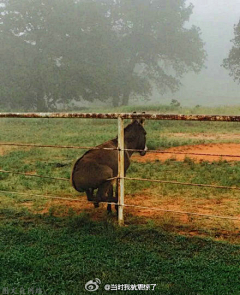
<path id="1" fill-rule="evenodd" d="M 236 105 L 240 103 L 240 85 L 221 64 L 232 47 L 234 25 L 240 19 L 240 0 L 191 0 L 194 5 L 190 24 L 201 28 L 207 51 L 206 69 L 189 73 L 182 79 L 180 91 L 165 94 L 164 102 L 177 99 L 183 105 Z M 158 101 L 155 93 L 153 101 Z"/>

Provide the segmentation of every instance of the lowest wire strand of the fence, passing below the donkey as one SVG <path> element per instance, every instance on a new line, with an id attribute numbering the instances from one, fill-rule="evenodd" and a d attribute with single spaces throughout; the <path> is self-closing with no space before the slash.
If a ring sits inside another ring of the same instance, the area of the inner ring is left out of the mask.
<path id="1" fill-rule="evenodd" d="M 21 192 L 13 192 L 13 191 L 5 191 L 5 190 L 0 190 L 0 193 L 4 194 L 19 194 L 19 195 L 32 195 L 36 197 L 43 197 L 46 199 L 58 199 L 58 200 L 64 200 L 64 201 L 72 201 L 72 202 L 86 202 L 83 200 L 79 199 L 73 199 L 73 198 L 63 198 L 63 197 L 56 197 L 52 195 L 41 195 L 41 194 L 34 194 L 34 193 L 21 193 Z M 113 202 L 104 202 L 109 205 L 119 205 L 117 203 Z M 131 204 L 122 204 L 124 207 L 134 207 L 138 209 L 144 209 L 144 210 L 154 210 L 154 211 L 161 211 L 161 212 L 166 212 L 166 213 L 175 213 L 175 214 L 182 214 L 182 215 L 194 215 L 194 216 L 200 216 L 204 218 L 219 218 L 219 219 L 229 219 L 229 220 L 235 220 L 235 221 L 240 221 L 240 218 L 237 217 L 231 217 L 231 216 L 221 216 L 221 215 L 213 215 L 213 214 L 202 214 L 202 213 L 196 213 L 196 212 L 188 212 L 188 211 L 175 211 L 175 210 L 167 210 L 167 209 L 161 209 L 161 208 L 156 208 L 156 207 L 147 207 L 147 206 L 139 206 L 139 205 L 131 205 Z"/>

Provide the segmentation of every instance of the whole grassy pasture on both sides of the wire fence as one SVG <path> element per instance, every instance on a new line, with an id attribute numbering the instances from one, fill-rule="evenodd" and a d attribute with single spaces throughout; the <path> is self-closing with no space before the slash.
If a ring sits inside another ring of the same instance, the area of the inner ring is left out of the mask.
<path id="1" fill-rule="evenodd" d="M 117 111 L 133 110 L 240 113 L 237 107 L 128 107 Z M 113 110 L 99 110 L 107 111 Z M 238 123 L 151 121 L 145 129 L 151 149 L 239 142 L 234 136 L 239 133 Z M 0 142 L 95 146 L 116 134 L 115 120 L 0 120 Z M 0 147 L 0 169 L 69 178 L 72 164 L 82 153 L 84 150 Z M 188 158 L 183 162 L 133 162 L 128 176 L 239 186 L 240 162 L 195 163 Z M 140 214 L 126 208 L 128 226 L 118 228 L 116 216 L 108 216 L 104 205 L 97 210 L 82 209 L 81 204 L 41 196 L 85 201 L 68 182 L 4 173 L 0 180 L 0 191 L 16 192 L 0 193 L 0 293 L 1 288 L 19 292 L 21 287 L 34 286 L 45 294 L 87 294 L 85 283 L 99 278 L 99 294 L 106 293 L 104 284 L 131 283 L 157 283 L 156 294 L 240 294 L 239 222 L 149 211 Z M 126 181 L 126 203 L 141 205 L 142 200 L 161 208 L 240 216 L 239 191 Z"/>

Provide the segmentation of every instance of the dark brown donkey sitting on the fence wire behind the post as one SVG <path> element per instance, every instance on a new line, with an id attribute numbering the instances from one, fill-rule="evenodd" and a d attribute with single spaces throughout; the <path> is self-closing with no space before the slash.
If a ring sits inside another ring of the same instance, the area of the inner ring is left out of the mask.
<path id="1" fill-rule="evenodd" d="M 113 197 L 114 180 L 108 180 L 118 175 L 118 139 L 114 138 L 101 145 L 97 150 L 87 151 L 74 164 L 72 170 L 72 185 L 78 192 L 86 192 L 89 201 L 92 201 L 95 207 L 100 202 L 118 202 L 116 189 Z M 146 154 L 146 131 L 143 128 L 143 120 L 134 120 L 124 129 L 125 149 L 141 150 L 140 155 Z M 114 150 L 104 150 L 103 148 L 113 148 Z M 133 151 L 124 152 L 124 172 L 130 165 L 130 157 Z M 94 190 L 98 189 L 94 194 Z M 117 209 L 117 207 L 116 207 Z M 111 205 L 108 204 L 108 211 L 111 212 Z"/>

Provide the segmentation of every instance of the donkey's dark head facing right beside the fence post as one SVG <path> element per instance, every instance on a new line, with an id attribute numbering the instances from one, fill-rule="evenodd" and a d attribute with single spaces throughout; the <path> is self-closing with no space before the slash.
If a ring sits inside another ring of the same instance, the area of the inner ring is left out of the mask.
<path id="1" fill-rule="evenodd" d="M 124 139 L 127 148 L 141 150 L 139 153 L 144 156 L 147 151 L 146 146 L 146 134 L 147 132 L 143 128 L 143 119 L 133 120 L 124 129 Z"/>

